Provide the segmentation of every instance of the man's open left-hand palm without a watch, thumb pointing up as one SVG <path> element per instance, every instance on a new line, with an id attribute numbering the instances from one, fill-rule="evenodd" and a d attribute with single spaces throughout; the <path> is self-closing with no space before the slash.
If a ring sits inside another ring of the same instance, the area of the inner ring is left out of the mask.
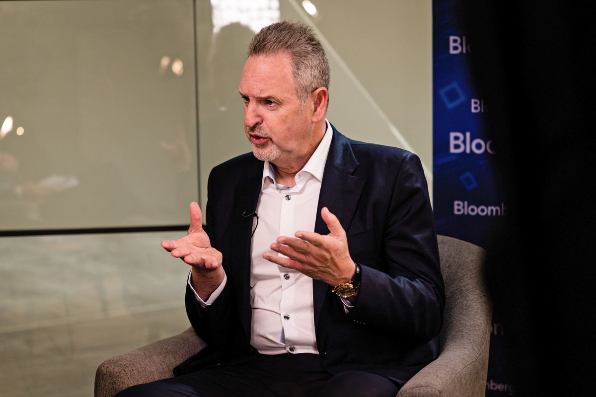
<path id="1" fill-rule="evenodd" d="M 196 202 L 190 204 L 190 227 L 186 236 L 178 240 L 163 240 L 162 247 L 172 257 L 181 258 L 193 266 L 193 287 L 198 295 L 209 295 L 224 280 L 222 254 L 211 246 L 209 236 L 203 229 L 203 214 Z"/>

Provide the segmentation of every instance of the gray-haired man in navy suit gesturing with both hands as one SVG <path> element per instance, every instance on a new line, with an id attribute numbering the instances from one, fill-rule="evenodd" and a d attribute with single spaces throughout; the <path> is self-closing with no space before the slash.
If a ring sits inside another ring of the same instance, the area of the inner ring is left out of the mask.
<path id="1" fill-rule="evenodd" d="M 253 153 L 213 168 L 207 231 L 163 248 L 190 264 L 209 345 L 181 376 L 122 395 L 393 396 L 436 358 L 443 281 L 426 180 L 406 151 L 325 120 L 329 67 L 311 29 L 254 36 L 240 81 Z"/>

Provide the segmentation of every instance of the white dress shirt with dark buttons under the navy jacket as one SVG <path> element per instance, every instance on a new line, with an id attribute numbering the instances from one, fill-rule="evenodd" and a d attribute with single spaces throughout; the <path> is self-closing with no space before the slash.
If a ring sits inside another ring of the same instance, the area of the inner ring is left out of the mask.
<path id="1" fill-rule="evenodd" d="M 294 177 L 296 186 L 275 182 L 273 165 L 263 165 L 263 177 L 254 235 L 250 247 L 250 305 L 252 327 L 250 343 L 260 354 L 312 353 L 316 349 L 312 279 L 297 270 L 276 265 L 263 258 L 278 236 L 294 236 L 298 230 L 315 230 L 316 209 L 321 181 L 333 135 L 329 121 L 315 152 Z M 281 254 L 278 254 L 281 255 Z M 206 302 L 213 303 L 224 289 L 227 277 Z M 191 289 L 190 274 L 188 283 Z"/>

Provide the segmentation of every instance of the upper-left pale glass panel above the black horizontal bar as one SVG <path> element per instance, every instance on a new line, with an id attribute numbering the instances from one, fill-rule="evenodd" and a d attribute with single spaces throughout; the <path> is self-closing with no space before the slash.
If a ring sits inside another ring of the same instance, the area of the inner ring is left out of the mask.
<path id="1" fill-rule="evenodd" d="M 0 2 L 0 230 L 188 222 L 193 2 Z"/>

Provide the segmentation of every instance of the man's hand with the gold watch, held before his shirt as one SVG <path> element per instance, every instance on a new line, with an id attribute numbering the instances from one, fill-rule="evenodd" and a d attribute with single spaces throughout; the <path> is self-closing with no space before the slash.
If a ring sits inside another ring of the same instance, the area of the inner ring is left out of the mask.
<path id="1" fill-rule="evenodd" d="M 288 258 L 265 252 L 263 258 L 275 264 L 296 269 L 315 280 L 336 286 L 352 279 L 356 265 L 347 249 L 346 232 L 336 215 L 324 207 L 321 216 L 330 233 L 296 232 L 296 237 L 280 236 L 271 249 Z"/>

